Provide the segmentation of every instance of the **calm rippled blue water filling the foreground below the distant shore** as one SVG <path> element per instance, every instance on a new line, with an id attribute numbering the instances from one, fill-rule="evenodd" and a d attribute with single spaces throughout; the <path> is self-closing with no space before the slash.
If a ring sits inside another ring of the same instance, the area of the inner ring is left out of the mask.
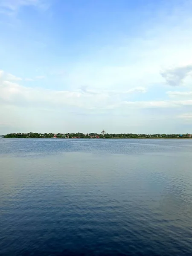
<path id="1" fill-rule="evenodd" d="M 0 256 L 192 255 L 192 140 L 0 139 Z"/>

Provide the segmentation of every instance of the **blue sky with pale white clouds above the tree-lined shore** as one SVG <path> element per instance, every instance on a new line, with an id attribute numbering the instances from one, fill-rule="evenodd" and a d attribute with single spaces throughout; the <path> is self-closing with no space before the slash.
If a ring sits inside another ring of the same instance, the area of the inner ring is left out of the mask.
<path id="1" fill-rule="evenodd" d="M 192 133 L 192 0 L 0 0 L 0 135 Z"/>

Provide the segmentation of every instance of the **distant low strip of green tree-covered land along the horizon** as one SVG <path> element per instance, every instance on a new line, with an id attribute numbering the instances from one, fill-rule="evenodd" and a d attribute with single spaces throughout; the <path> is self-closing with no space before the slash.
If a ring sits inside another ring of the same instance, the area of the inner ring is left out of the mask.
<path id="1" fill-rule="evenodd" d="M 32 138 L 32 139 L 45 139 L 45 138 L 54 138 L 54 139 L 112 139 L 112 138 L 133 138 L 133 139 L 150 139 L 150 138 L 191 138 L 191 134 L 108 134 L 104 130 L 101 134 L 97 133 L 89 133 L 83 134 L 81 132 L 78 133 L 11 133 L 3 135 L 4 138 Z"/>

